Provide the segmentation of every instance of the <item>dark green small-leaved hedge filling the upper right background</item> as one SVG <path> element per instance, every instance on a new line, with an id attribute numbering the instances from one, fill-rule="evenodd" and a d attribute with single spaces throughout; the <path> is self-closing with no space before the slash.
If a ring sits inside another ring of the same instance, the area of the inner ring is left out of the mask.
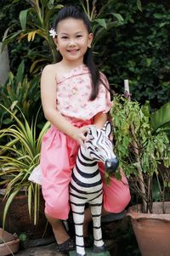
<path id="1" fill-rule="evenodd" d="M 116 0 L 114 9 L 122 14 L 123 26 L 109 32 L 107 40 L 101 38 L 99 65 L 117 93 L 129 79 L 133 98 L 141 104 L 150 100 L 156 111 L 170 98 L 169 5 L 142 1 L 141 12 L 134 0 Z"/>

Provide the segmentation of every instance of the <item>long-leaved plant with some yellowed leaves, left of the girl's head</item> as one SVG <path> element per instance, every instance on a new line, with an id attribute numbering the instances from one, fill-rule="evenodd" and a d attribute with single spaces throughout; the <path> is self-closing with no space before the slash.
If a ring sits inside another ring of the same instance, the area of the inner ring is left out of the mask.
<path id="1" fill-rule="evenodd" d="M 14 1 L 13 4 L 21 2 L 20 0 Z M 52 37 L 49 36 L 48 30 L 50 29 L 50 21 L 54 13 L 60 9 L 62 4 L 54 4 L 50 0 L 28 0 L 30 8 L 20 11 L 21 29 L 8 34 L 10 27 L 5 31 L 3 36 L 3 48 L 12 43 L 16 38 L 19 42 L 27 37 L 28 42 L 35 40 L 37 35 L 41 37 L 42 42 L 38 41 L 37 47 L 31 48 L 29 56 L 31 57 L 30 71 L 37 72 L 41 69 L 44 63 L 49 63 L 55 60 L 55 46 Z"/>

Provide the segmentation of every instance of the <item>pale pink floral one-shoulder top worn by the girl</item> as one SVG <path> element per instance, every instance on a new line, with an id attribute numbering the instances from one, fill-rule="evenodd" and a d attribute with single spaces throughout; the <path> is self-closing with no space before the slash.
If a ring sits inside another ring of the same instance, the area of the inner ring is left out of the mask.
<path id="1" fill-rule="evenodd" d="M 100 72 L 100 79 L 109 88 L 108 81 Z M 111 95 L 104 84 L 99 84 L 99 94 L 93 101 L 91 94 L 91 78 L 88 67 L 84 64 L 77 66 L 64 76 L 56 78 L 57 82 L 57 110 L 65 117 L 89 120 L 99 112 L 111 109 Z"/>

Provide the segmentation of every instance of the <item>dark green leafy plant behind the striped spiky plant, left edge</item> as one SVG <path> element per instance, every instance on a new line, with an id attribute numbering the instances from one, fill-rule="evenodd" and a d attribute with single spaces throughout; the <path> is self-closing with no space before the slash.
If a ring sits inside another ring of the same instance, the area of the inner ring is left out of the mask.
<path id="1" fill-rule="evenodd" d="M 32 118 L 41 105 L 40 100 L 40 76 L 28 79 L 25 75 L 25 62 L 20 63 L 17 73 L 9 72 L 8 81 L 0 86 L 0 103 L 20 117 L 18 105 L 26 120 L 31 123 Z M 14 117 L 9 116 L 5 109 L 1 111 L 0 128 L 14 122 Z"/>

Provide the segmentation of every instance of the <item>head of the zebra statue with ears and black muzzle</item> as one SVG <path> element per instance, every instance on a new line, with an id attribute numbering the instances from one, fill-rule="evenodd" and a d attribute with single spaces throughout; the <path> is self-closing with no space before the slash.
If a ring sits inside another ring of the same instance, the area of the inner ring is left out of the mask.
<path id="1" fill-rule="evenodd" d="M 111 122 L 105 122 L 102 129 L 95 126 L 88 128 L 87 140 L 85 142 L 88 156 L 96 161 L 105 163 L 105 170 L 114 173 L 119 165 L 118 158 L 113 151 L 113 143 L 109 136 L 111 134 Z"/>

